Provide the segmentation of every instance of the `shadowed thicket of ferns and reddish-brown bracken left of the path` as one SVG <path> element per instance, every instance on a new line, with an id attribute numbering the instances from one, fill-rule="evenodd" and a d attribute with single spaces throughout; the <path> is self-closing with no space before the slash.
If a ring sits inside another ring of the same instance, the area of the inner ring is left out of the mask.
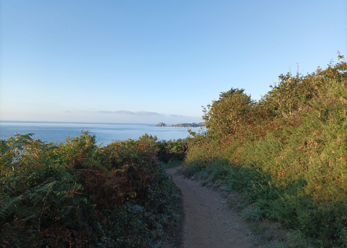
<path id="1" fill-rule="evenodd" d="M 180 191 L 156 155 L 179 157 L 181 144 L 145 134 L 98 147 L 89 132 L 59 145 L 1 140 L 0 247 L 172 247 Z"/>

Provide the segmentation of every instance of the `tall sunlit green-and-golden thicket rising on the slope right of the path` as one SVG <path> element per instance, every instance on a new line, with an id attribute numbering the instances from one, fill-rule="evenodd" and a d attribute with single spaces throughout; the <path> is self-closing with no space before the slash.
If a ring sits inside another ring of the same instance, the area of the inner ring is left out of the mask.
<path id="1" fill-rule="evenodd" d="M 347 63 L 339 60 L 281 74 L 259 101 L 243 89 L 222 92 L 203 109 L 208 131 L 192 133 L 184 172 L 241 191 L 258 217 L 313 245 L 347 247 Z"/>

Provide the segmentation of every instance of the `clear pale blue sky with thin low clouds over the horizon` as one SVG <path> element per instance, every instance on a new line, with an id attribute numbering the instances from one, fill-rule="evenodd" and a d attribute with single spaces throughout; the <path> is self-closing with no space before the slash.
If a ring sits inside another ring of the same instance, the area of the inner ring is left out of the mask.
<path id="1" fill-rule="evenodd" d="M 346 0 L 0 0 L 0 121 L 198 123 L 338 51 Z"/>

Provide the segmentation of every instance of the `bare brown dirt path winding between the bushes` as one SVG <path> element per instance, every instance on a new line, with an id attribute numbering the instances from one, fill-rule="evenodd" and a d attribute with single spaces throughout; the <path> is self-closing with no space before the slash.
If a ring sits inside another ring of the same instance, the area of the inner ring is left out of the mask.
<path id="1" fill-rule="evenodd" d="M 167 169 L 183 194 L 184 225 L 182 248 L 250 248 L 251 231 L 241 218 L 228 208 L 227 200 L 198 182 L 176 175 L 177 168 Z"/>

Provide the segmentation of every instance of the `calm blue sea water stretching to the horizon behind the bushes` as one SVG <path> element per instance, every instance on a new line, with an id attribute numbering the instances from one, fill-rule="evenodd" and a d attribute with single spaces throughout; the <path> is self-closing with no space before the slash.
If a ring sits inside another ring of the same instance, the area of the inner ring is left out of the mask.
<path id="1" fill-rule="evenodd" d="M 160 127 L 155 124 L 105 124 L 105 123 L 57 123 L 57 122 L 7 122 L 0 121 L 0 139 L 7 139 L 15 133 L 35 133 L 35 138 L 45 142 L 60 143 L 65 137 L 75 137 L 81 130 L 89 130 L 96 135 L 97 144 L 107 145 L 112 140 L 137 139 L 147 133 L 159 140 L 185 138 L 187 128 Z M 192 128 L 197 131 L 199 128 Z"/>

